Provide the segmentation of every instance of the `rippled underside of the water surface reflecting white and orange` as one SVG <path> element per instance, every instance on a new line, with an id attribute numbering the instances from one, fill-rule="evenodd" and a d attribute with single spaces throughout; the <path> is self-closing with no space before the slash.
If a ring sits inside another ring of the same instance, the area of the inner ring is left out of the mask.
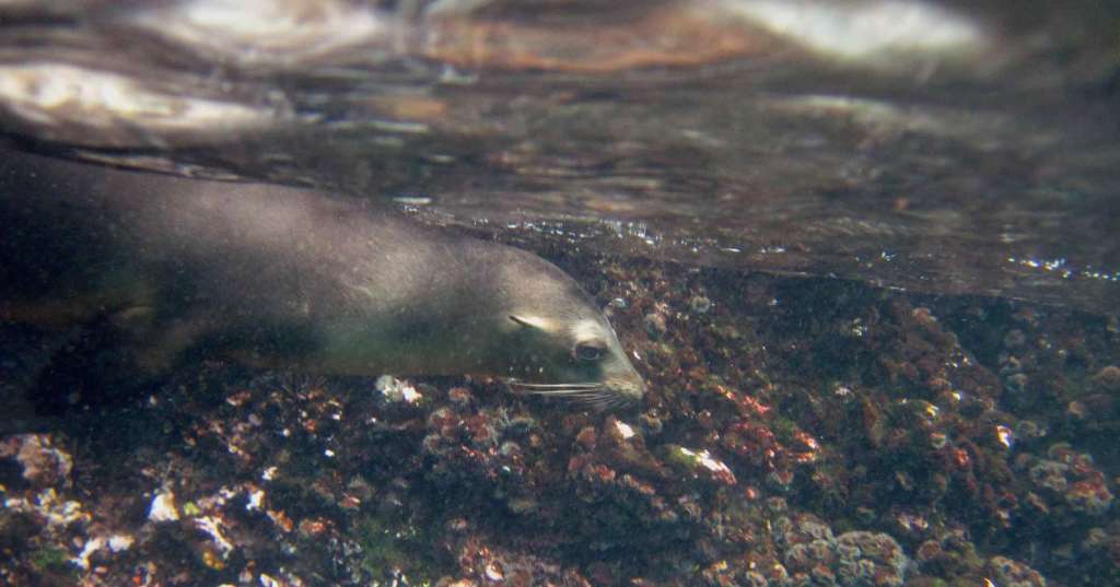
<path id="1" fill-rule="evenodd" d="M 526 244 L 1112 311 L 1120 9 L 1021 8 L 7 2 L 0 125 Z"/>

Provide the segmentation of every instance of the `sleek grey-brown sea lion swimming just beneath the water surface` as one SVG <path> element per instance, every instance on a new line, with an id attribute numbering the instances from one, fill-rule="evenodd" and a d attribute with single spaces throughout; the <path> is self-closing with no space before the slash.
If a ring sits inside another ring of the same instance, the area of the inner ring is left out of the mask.
<path id="1" fill-rule="evenodd" d="M 146 372 L 205 350 L 323 374 L 480 374 L 606 408 L 642 378 L 529 252 L 357 198 L 0 152 L 0 319 L 119 333 Z"/>

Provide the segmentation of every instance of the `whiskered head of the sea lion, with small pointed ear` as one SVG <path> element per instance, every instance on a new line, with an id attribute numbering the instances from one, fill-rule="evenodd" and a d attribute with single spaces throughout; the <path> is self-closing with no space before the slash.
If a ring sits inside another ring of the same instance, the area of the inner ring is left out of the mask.
<path id="1" fill-rule="evenodd" d="M 498 294 L 510 386 L 598 409 L 641 401 L 645 383 L 591 297 L 556 265 L 515 254 Z"/>

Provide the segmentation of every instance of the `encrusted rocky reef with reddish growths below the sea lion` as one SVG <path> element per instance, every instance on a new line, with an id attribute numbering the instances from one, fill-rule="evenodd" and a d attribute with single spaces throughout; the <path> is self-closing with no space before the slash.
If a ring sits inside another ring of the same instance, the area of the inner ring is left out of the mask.
<path id="1" fill-rule="evenodd" d="M 485 379 L 185 367 L 123 416 L 0 438 L 0 583 L 1120 578 L 1107 319 L 559 261 L 641 357 L 641 407 Z"/>

